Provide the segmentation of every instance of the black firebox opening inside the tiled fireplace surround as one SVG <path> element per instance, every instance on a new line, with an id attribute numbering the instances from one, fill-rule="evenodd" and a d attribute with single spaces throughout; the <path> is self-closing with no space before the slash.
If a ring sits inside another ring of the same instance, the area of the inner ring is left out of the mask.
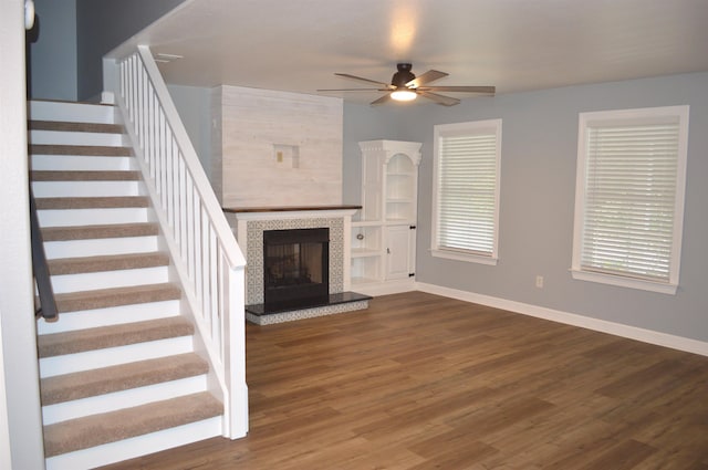
<path id="1" fill-rule="evenodd" d="M 267 311 L 326 303 L 330 229 L 263 231 L 263 303 Z"/>

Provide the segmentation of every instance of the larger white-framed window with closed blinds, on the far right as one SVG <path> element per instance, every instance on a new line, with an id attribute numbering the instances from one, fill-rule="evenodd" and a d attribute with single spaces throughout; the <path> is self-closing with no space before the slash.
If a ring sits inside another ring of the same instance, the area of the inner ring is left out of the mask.
<path id="1" fill-rule="evenodd" d="M 574 279 L 675 294 L 688 106 L 581 113 Z"/>

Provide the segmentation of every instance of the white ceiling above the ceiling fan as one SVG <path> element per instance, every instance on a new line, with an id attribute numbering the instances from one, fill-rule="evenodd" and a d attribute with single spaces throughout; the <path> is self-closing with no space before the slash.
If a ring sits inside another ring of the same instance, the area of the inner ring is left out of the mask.
<path id="1" fill-rule="evenodd" d="M 133 42 L 184 56 L 160 64 L 174 84 L 317 94 L 413 62 L 501 94 L 708 71 L 708 0 L 187 0 Z"/>

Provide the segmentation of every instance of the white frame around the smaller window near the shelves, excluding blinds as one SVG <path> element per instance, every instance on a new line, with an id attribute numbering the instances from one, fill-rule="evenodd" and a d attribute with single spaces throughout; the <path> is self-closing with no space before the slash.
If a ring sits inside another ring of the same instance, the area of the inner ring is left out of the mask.
<path id="1" fill-rule="evenodd" d="M 499 207 L 501 189 L 501 130 L 502 119 L 472 121 L 454 124 L 438 124 L 434 126 L 434 161 L 433 161 L 433 227 L 430 237 L 430 253 L 436 258 L 445 258 L 457 261 L 475 262 L 496 265 L 499 260 Z M 468 251 L 464 249 L 441 248 L 439 240 L 439 174 L 440 174 L 440 138 L 458 135 L 493 135 L 494 148 L 494 209 L 493 209 L 493 236 L 492 250 L 489 254 Z"/>

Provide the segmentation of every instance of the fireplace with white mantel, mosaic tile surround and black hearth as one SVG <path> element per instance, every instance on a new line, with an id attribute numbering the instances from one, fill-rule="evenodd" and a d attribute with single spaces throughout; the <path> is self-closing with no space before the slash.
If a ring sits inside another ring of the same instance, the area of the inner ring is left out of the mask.
<path id="1" fill-rule="evenodd" d="M 368 306 L 371 296 L 348 291 L 351 221 L 357 209 L 225 209 L 248 263 L 246 318 L 250 323 L 271 325 Z"/>

